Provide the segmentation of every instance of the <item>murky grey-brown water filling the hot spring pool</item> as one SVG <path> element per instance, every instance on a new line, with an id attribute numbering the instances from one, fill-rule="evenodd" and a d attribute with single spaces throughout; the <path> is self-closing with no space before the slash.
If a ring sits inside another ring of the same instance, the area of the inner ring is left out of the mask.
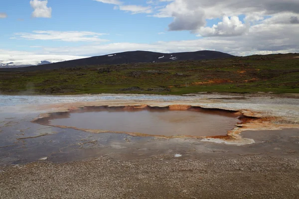
<path id="1" fill-rule="evenodd" d="M 49 124 L 162 136 L 227 135 L 240 121 L 229 112 L 148 109 L 73 112 L 57 117 L 52 116 Z"/>

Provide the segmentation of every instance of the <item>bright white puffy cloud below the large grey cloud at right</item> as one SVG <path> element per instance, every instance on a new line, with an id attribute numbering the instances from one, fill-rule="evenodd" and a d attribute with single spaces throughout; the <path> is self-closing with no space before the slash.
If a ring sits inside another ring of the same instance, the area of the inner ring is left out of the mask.
<path id="1" fill-rule="evenodd" d="M 208 36 L 238 36 L 245 33 L 247 26 L 239 20 L 238 16 L 223 16 L 222 21 L 212 27 L 201 27 L 198 33 L 203 37 Z"/>

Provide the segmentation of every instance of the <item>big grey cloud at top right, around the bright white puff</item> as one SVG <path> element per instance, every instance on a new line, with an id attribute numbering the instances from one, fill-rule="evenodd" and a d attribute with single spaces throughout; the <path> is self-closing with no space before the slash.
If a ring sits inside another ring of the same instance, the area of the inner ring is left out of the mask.
<path id="1" fill-rule="evenodd" d="M 172 17 L 173 21 L 168 25 L 169 30 L 200 30 L 206 26 L 206 19 L 215 19 L 223 15 L 228 17 L 244 15 L 247 22 L 263 20 L 265 16 L 271 17 L 277 13 L 299 13 L 298 0 L 160 0 L 168 3 L 156 10 L 154 17 Z M 234 19 L 234 18 L 233 18 Z M 231 21 L 233 22 L 233 21 Z M 238 21 L 235 21 L 238 22 Z M 289 22 L 297 23 L 297 18 L 289 18 Z M 215 24 L 208 32 L 216 32 L 219 26 Z M 242 24 L 236 24 L 230 35 L 239 35 Z M 232 30 L 232 28 L 230 28 Z M 203 30 L 202 30 L 203 31 Z M 242 32 L 242 31 L 241 31 Z M 209 34 L 208 34 L 209 35 Z M 211 34 L 214 36 L 215 34 Z M 222 34 L 227 36 L 227 34 Z"/>

